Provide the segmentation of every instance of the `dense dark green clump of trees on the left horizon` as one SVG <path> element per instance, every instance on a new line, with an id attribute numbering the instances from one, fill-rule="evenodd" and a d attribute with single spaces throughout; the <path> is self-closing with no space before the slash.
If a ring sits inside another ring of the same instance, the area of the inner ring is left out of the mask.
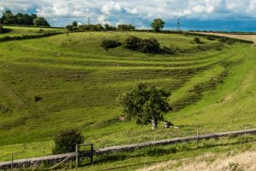
<path id="1" fill-rule="evenodd" d="M 13 14 L 11 10 L 3 12 L 0 18 L 0 24 L 3 25 L 23 25 L 23 26 L 50 26 L 44 17 L 38 17 L 37 14 Z"/>

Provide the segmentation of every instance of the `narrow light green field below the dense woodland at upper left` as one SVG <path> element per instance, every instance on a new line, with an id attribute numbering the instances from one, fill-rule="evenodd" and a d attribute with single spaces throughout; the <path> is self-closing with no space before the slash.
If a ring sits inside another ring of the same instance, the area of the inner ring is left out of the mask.
<path id="1" fill-rule="evenodd" d="M 57 28 L 39 28 L 39 27 L 24 27 L 24 26 L 4 26 L 6 29 L 10 29 L 9 32 L 0 33 L 0 37 L 15 37 L 21 35 L 37 35 L 47 31 L 65 31 L 65 29 Z"/>

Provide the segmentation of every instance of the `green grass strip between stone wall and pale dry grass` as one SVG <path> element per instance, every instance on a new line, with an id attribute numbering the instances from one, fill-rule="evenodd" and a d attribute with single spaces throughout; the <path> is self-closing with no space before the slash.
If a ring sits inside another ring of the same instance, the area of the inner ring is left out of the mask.
<path id="1" fill-rule="evenodd" d="M 180 143 L 177 145 L 165 145 L 165 146 L 152 146 L 137 151 L 116 152 L 112 154 L 105 154 L 94 157 L 94 164 L 88 165 L 89 160 L 83 158 L 80 163 L 84 162 L 80 168 L 73 169 L 74 162 L 67 162 L 62 164 L 57 170 L 136 170 L 139 168 L 148 168 L 150 166 L 157 165 L 162 162 L 176 162 L 172 165 L 172 168 L 178 167 L 179 162 L 183 162 L 184 159 L 195 160 L 195 157 L 205 155 L 211 156 L 213 162 L 218 157 L 226 155 L 228 157 L 240 154 L 245 151 L 255 151 L 256 137 L 255 135 L 235 136 L 229 138 L 220 138 L 218 140 L 200 140 L 198 146 L 196 142 Z M 208 158 L 210 159 L 210 158 Z M 211 162 L 209 161 L 209 162 Z M 202 161 L 199 161 L 202 162 Z M 43 165 L 38 170 L 49 170 L 50 166 Z M 26 170 L 35 170 L 34 168 L 27 168 Z"/>

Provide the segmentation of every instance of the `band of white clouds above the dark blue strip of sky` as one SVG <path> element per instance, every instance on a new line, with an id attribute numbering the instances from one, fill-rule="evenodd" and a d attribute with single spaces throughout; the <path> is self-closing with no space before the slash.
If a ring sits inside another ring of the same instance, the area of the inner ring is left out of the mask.
<path id="1" fill-rule="evenodd" d="M 188 19 L 256 18 L 256 0 L 0 0 L 0 12 L 34 11 L 54 26 L 67 22 L 124 23 L 147 26 L 154 18 Z"/>

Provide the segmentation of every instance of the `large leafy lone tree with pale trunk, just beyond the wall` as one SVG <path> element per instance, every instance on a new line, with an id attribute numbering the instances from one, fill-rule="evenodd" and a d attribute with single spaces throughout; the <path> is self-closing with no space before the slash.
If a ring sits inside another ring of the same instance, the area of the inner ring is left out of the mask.
<path id="1" fill-rule="evenodd" d="M 119 94 L 118 105 L 122 107 L 127 119 L 136 120 L 138 125 L 151 123 L 154 130 L 159 121 L 164 121 L 164 114 L 172 110 L 168 103 L 170 95 L 162 87 L 137 83 L 131 90 Z"/>

